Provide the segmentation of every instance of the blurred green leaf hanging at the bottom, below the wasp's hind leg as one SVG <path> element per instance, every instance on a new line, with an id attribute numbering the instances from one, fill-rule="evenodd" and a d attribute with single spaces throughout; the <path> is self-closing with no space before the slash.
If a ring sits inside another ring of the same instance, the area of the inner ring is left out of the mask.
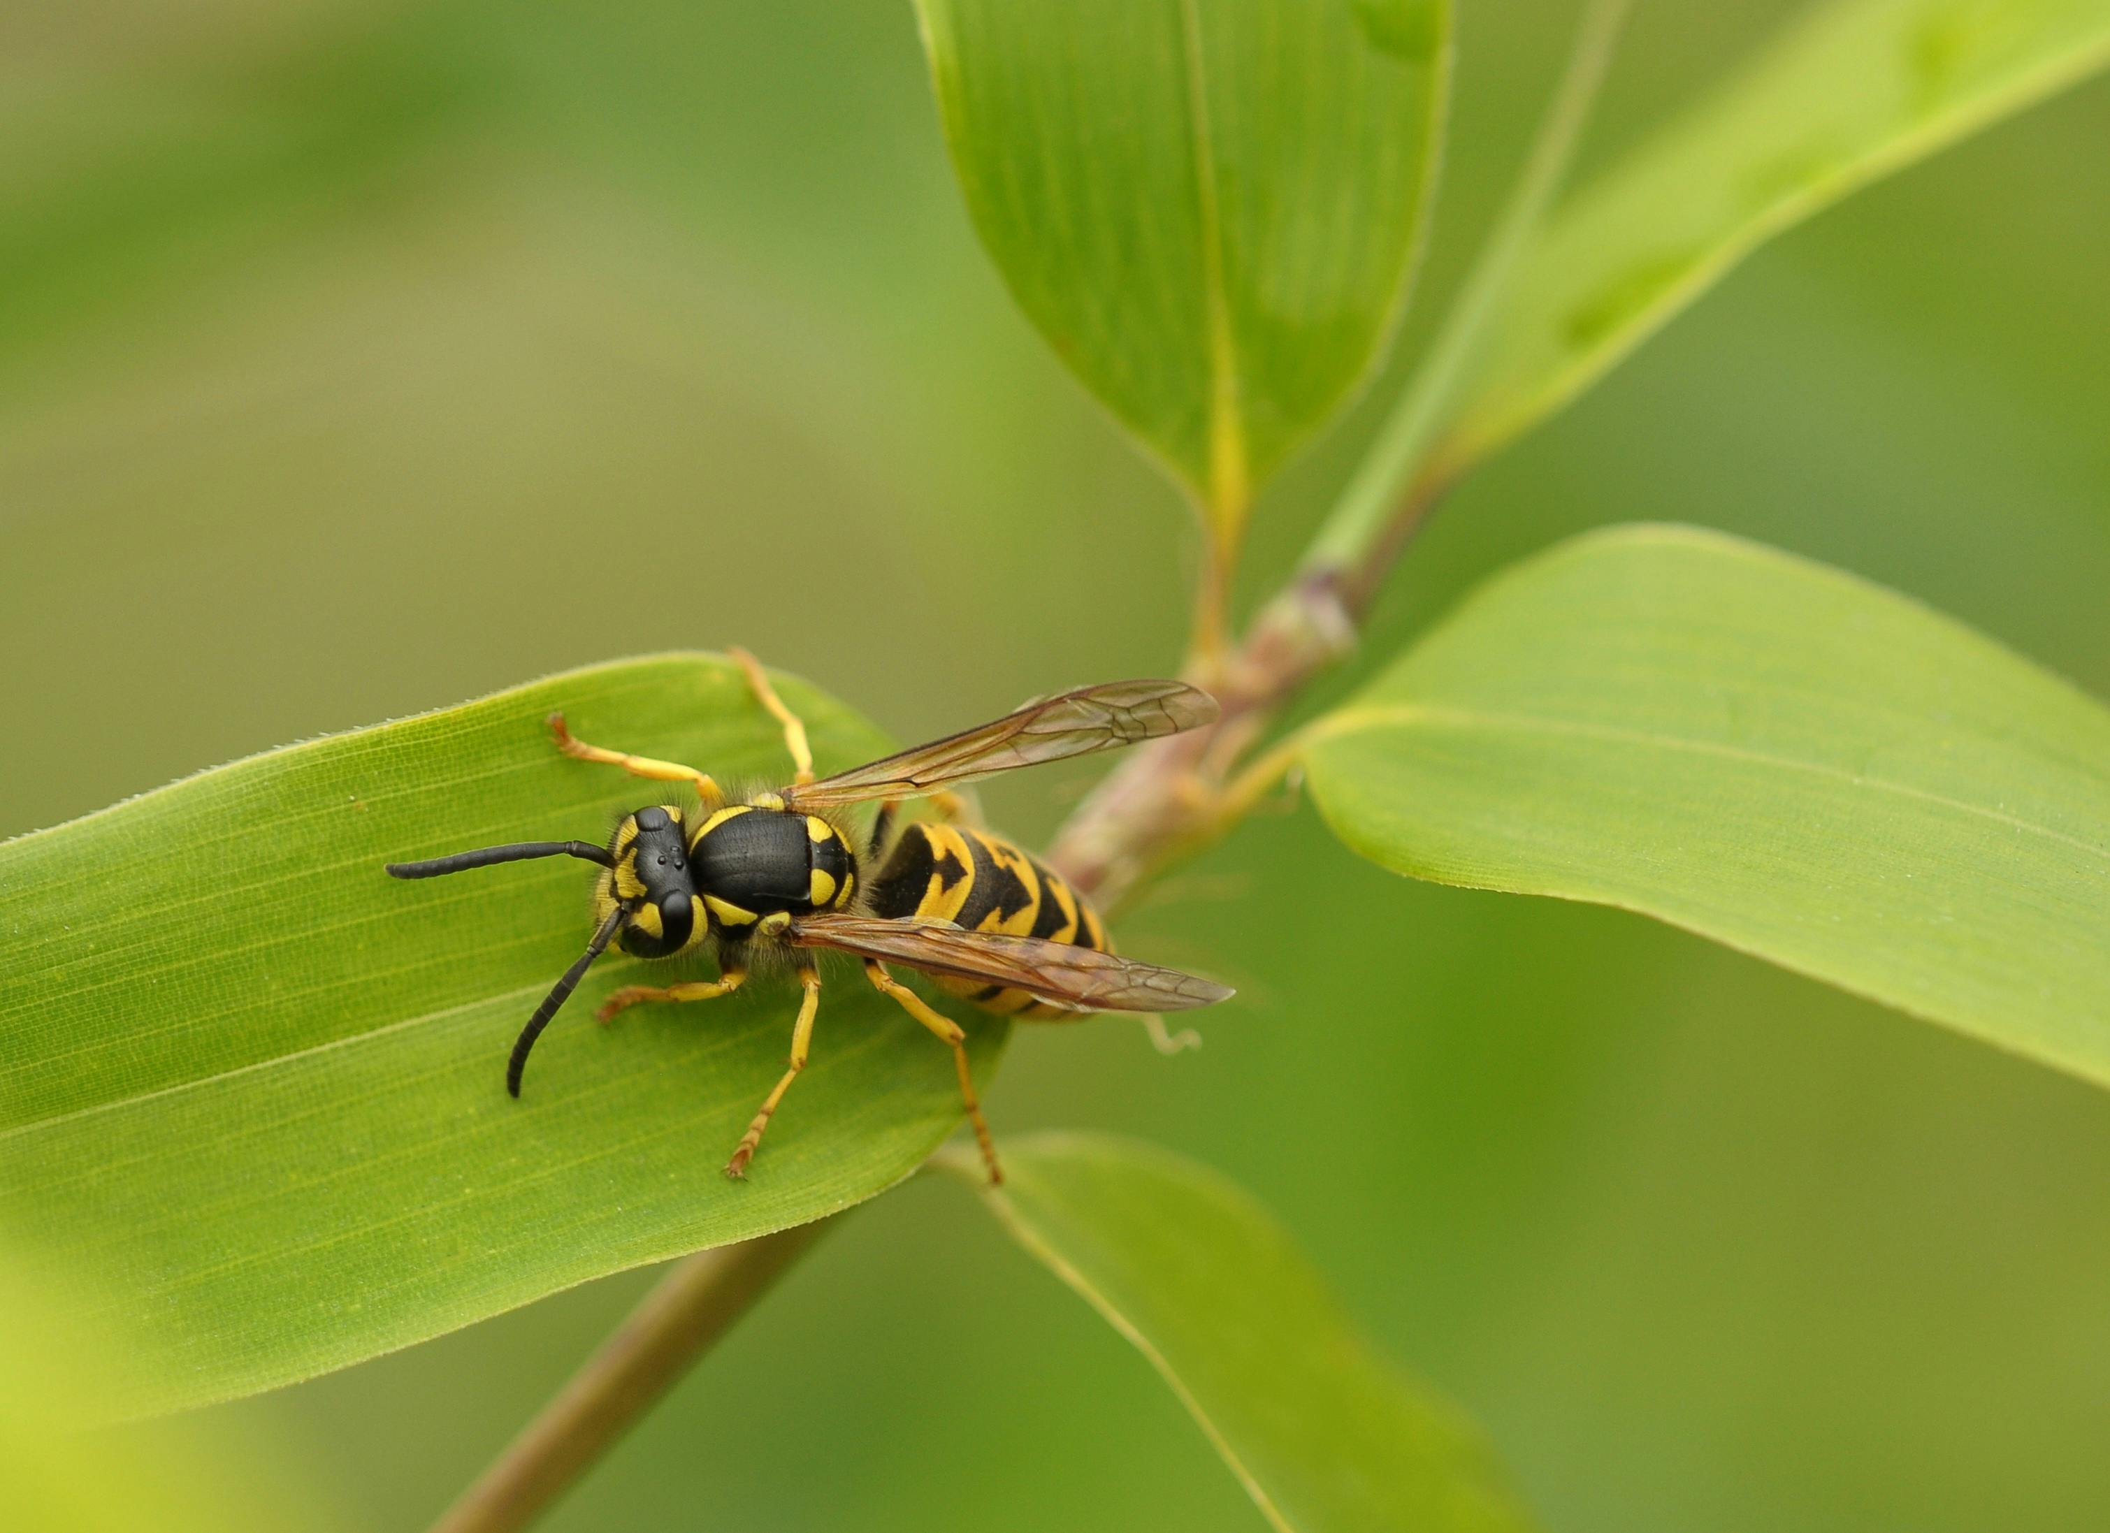
<path id="1" fill-rule="evenodd" d="M 939 1164 L 1179 1396 L 1283 1533 L 1532 1527 L 1479 1436 L 1393 1371 L 1281 1225 L 1207 1166 L 1112 1134 Z"/>

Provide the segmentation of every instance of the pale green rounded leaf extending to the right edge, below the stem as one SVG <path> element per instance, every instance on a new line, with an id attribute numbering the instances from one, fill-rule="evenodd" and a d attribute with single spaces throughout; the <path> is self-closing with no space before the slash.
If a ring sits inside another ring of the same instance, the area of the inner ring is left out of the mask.
<path id="1" fill-rule="evenodd" d="M 1690 527 L 1576 538 L 1306 765 L 1399 873 L 1644 911 L 2110 1084 L 2110 709 L 1853 576 Z"/>

